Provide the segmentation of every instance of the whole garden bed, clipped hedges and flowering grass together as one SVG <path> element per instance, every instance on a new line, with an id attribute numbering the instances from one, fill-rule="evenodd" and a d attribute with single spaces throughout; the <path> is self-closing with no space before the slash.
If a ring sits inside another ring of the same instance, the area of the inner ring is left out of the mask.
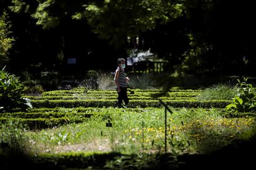
<path id="1" fill-rule="evenodd" d="M 134 90 L 128 108 L 114 107 L 115 91 L 45 92 L 31 98 L 33 108 L 3 113 L 0 129 L 18 137 L 20 153 L 36 155 L 27 160 L 33 168 L 196 167 L 191 160 L 255 136 L 255 113 L 226 112 L 230 100 L 200 100 L 202 92 Z M 106 99 L 99 99 L 103 95 Z M 171 110 L 166 117 L 159 99 Z"/>

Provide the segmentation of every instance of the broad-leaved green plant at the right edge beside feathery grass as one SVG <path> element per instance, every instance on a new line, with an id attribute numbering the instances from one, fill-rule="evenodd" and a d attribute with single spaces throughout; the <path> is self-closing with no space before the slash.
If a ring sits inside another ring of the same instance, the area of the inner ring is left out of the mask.
<path id="1" fill-rule="evenodd" d="M 244 81 L 237 79 L 238 94 L 233 98 L 233 102 L 226 106 L 226 111 L 234 110 L 236 112 L 248 112 L 256 108 L 256 95 L 253 91 L 252 84 L 247 83 L 249 78 Z"/>

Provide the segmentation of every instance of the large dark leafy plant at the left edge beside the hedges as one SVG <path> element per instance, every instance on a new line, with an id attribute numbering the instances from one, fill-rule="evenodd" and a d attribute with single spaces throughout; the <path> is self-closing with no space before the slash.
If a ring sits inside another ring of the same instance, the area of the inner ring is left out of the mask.
<path id="1" fill-rule="evenodd" d="M 23 92 L 24 86 L 19 78 L 6 71 L 0 71 L 0 112 L 32 107 L 29 99 L 23 98 Z"/>

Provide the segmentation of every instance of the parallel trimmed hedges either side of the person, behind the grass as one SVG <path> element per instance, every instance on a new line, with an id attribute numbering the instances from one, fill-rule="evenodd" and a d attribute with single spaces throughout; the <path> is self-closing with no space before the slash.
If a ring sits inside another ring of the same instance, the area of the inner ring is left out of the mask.
<path id="1" fill-rule="evenodd" d="M 130 108 L 163 107 L 158 99 L 162 99 L 170 107 L 186 108 L 225 108 L 231 103 L 228 100 L 198 101 L 197 95 L 203 90 L 140 90 L 128 89 Z M 133 93 L 131 93 L 133 92 Z M 34 108 L 76 108 L 76 107 L 115 107 L 116 91 L 90 91 L 86 89 L 44 92 L 40 97 L 30 98 Z"/>

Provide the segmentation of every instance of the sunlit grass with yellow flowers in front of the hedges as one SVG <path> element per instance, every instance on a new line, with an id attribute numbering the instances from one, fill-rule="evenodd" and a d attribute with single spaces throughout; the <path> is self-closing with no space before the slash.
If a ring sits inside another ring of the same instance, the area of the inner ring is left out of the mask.
<path id="1" fill-rule="evenodd" d="M 167 151 L 210 152 L 252 136 L 254 118 L 223 118 L 222 109 L 171 108 L 167 118 Z M 106 123 L 113 127 L 106 127 Z M 164 152 L 163 108 L 97 108 L 80 124 L 26 132 L 37 153 Z"/>

